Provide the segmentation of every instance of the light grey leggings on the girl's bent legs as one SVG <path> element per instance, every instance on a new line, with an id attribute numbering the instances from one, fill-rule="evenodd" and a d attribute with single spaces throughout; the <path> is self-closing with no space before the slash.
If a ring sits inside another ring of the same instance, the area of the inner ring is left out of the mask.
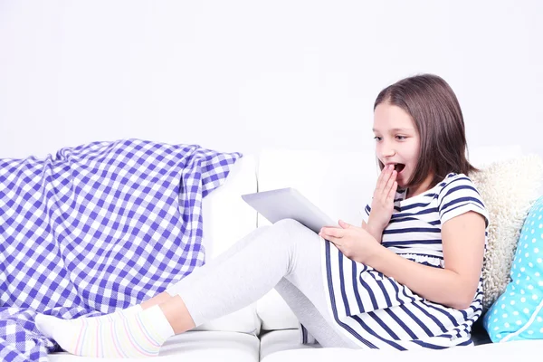
<path id="1" fill-rule="evenodd" d="M 322 347 L 358 348 L 329 315 L 319 235 L 285 219 L 249 233 L 232 248 L 167 289 L 199 326 L 255 302 L 275 288 Z"/>

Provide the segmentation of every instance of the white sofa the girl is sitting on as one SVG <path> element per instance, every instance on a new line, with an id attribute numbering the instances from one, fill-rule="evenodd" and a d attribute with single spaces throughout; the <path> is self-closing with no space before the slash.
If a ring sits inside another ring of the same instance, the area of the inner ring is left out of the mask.
<path id="1" fill-rule="evenodd" d="M 521 153 L 519 146 L 477 148 L 471 151 L 470 159 L 476 167 L 483 167 L 493 160 L 516 157 Z M 292 186 L 331 217 L 360 224 L 360 210 L 373 192 L 376 177 L 373 149 L 357 152 L 269 149 L 258 155 L 244 155 L 234 165 L 224 186 L 214 190 L 204 200 L 206 257 L 216 257 L 254 228 L 269 224 L 246 205 L 240 195 Z M 481 328 L 474 339 L 477 346 L 473 348 L 442 351 L 397 352 L 303 346 L 299 344 L 296 317 L 281 297 L 271 291 L 243 310 L 170 338 L 156 359 L 179 362 L 286 362 L 338 358 L 358 361 L 367 357 L 392 358 L 402 353 L 405 361 L 435 357 L 434 354 L 439 354 L 441 361 L 457 361 L 462 357 L 505 360 L 533 356 L 543 348 L 543 340 L 493 344 Z M 98 360 L 66 353 L 55 353 L 50 358 L 53 362 Z"/>

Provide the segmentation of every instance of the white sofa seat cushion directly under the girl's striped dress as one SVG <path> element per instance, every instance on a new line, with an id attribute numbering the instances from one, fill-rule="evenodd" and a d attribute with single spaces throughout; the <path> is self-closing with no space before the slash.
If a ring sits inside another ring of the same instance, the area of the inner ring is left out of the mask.
<path id="1" fill-rule="evenodd" d="M 543 339 L 522 340 L 509 343 L 488 343 L 475 347 L 454 347 L 440 350 L 415 349 L 409 351 L 348 348 L 305 348 L 289 349 L 271 353 L 262 362 L 358 362 L 389 361 L 420 362 L 438 360 L 458 362 L 462 360 L 510 361 L 534 360 L 543 348 Z"/>

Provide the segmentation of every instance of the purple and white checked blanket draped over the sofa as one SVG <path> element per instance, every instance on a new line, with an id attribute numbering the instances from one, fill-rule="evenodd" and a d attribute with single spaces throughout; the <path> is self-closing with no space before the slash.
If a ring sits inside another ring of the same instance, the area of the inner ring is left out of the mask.
<path id="1" fill-rule="evenodd" d="M 0 159 L 0 359 L 58 348 L 36 311 L 110 313 L 201 266 L 202 198 L 239 157 L 129 139 Z"/>

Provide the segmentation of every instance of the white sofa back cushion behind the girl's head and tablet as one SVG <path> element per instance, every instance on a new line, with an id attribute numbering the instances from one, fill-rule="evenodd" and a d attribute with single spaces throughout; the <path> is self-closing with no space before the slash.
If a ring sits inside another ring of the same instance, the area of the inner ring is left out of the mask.
<path id="1" fill-rule="evenodd" d="M 475 148 L 470 160 L 482 167 L 493 160 L 521 155 L 519 146 Z M 329 214 L 360 224 L 371 199 L 379 169 L 375 150 L 356 152 L 265 149 L 258 156 L 258 189 L 294 187 Z M 261 214 L 258 225 L 270 224 Z"/>

